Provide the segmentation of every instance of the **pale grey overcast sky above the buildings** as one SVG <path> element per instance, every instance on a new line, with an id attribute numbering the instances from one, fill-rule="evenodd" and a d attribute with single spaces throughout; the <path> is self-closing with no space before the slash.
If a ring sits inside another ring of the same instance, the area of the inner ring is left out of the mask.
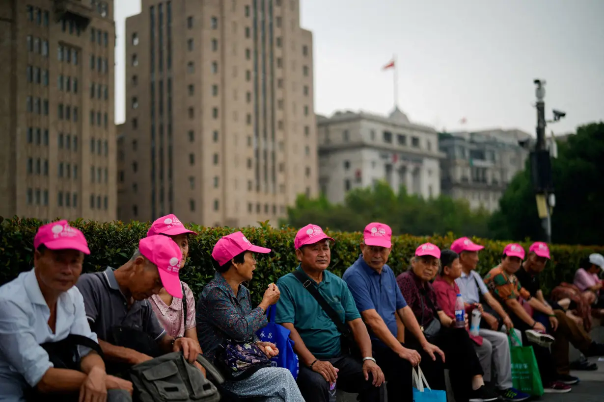
<path id="1" fill-rule="evenodd" d="M 201 1 L 201 0 L 200 0 Z M 536 124 L 534 78 L 545 107 L 567 112 L 548 133 L 604 119 L 604 0 L 301 0 L 313 33 L 315 111 L 399 106 L 437 130 Z M 115 118 L 124 121 L 124 22 L 140 0 L 116 0 Z M 460 119 L 466 118 L 465 125 Z"/>

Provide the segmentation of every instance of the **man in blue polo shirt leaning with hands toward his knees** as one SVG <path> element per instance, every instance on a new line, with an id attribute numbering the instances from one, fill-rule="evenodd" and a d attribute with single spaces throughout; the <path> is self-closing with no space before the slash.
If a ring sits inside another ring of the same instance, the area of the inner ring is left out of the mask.
<path id="1" fill-rule="evenodd" d="M 397 286 L 394 272 L 386 263 L 392 251 L 392 230 L 388 225 L 373 222 L 365 227 L 361 256 L 342 276 L 355 299 L 356 307 L 367 324 L 373 346 L 373 356 L 384 370 L 388 399 L 413 400 L 411 366 L 417 366 L 422 356 L 397 341 L 397 320 L 417 338 L 428 359 L 445 354 L 426 341 L 417 319 Z"/>

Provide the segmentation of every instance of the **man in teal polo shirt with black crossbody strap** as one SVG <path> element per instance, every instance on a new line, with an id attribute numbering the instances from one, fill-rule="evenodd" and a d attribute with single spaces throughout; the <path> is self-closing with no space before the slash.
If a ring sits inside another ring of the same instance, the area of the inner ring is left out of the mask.
<path id="1" fill-rule="evenodd" d="M 326 271 L 329 267 L 331 237 L 317 225 L 306 225 L 296 234 L 294 247 L 300 261 L 298 271 L 277 281 L 281 297 L 276 321 L 291 331 L 294 350 L 300 358 L 298 387 L 306 401 L 329 402 L 332 383 L 346 392 L 359 394 L 362 402 L 379 401 L 379 386 L 384 373 L 371 355 L 371 339 L 352 294 L 344 281 Z M 361 359 L 342 351 L 341 332 L 305 286 L 314 286 L 319 294 L 347 324 Z"/>

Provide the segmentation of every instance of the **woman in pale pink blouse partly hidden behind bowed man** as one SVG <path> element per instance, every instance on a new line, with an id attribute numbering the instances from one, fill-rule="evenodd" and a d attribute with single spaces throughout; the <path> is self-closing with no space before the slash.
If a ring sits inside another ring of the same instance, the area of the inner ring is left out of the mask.
<path id="1" fill-rule="evenodd" d="M 163 234 L 169 236 L 178 244 L 182 251 L 181 269 L 185 265 L 188 256 L 188 236 L 190 233 L 196 234 L 194 231 L 187 230 L 182 225 L 181 221 L 176 218 L 176 215 L 170 214 L 162 216 L 151 225 L 147 232 L 147 236 L 154 234 Z M 195 326 L 195 300 L 193 292 L 191 292 L 188 284 L 182 283 L 183 299 L 172 297 L 161 289 L 159 294 L 149 298 L 151 307 L 155 312 L 159 322 L 165 331 L 174 338 L 191 338 L 198 342 L 197 330 Z M 187 316 L 184 314 L 183 300 L 187 305 Z"/>

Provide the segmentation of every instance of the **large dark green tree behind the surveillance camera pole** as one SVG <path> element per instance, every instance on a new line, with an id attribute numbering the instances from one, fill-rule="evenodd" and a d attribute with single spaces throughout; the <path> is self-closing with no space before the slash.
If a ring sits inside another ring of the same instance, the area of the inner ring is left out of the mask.
<path id="1" fill-rule="evenodd" d="M 497 239 L 544 239 L 529 164 L 513 178 L 490 219 Z M 556 194 L 552 242 L 604 244 L 604 122 L 583 125 L 559 141 L 551 165 Z"/>

